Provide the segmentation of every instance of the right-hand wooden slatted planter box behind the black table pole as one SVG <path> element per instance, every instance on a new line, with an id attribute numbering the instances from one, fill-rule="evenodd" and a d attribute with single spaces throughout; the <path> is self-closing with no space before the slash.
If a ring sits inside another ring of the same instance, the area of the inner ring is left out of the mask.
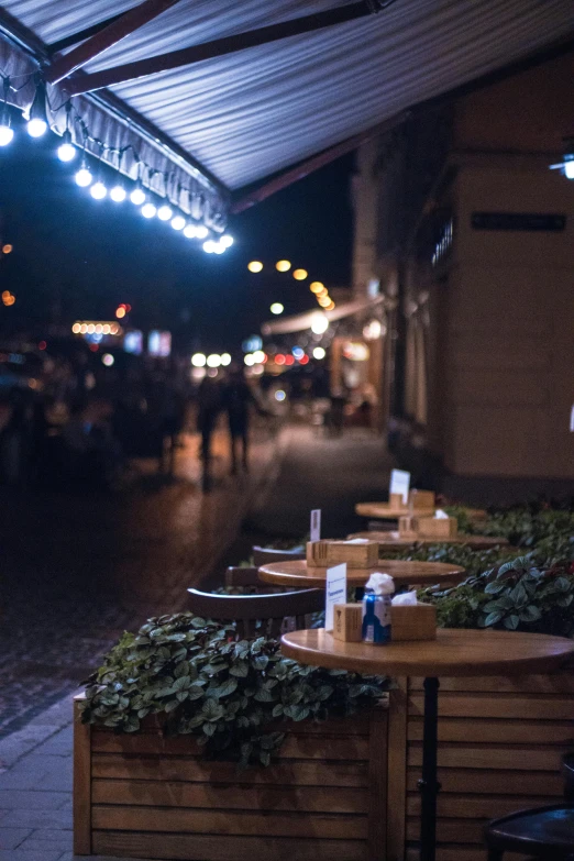
<path id="1" fill-rule="evenodd" d="M 422 706 L 421 678 L 402 680 L 390 693 L 388 861 L 418 859 Z M 574 674 L 443 678 L 439 715 L 437 861 L 485 861 L 486 821 L 563 798 L 561 757 L 574 750 Z"/>

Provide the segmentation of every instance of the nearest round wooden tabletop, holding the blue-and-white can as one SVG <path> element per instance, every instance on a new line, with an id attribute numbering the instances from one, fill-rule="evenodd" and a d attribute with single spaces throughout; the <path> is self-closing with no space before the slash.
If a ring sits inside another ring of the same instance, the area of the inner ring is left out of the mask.
<path id="1" fill-rule="evenodd" d="M 556 671 L 574 656 L 574 640 L 442 628 L 437 640 L 373 645 L 335 640 L 324 628 L 316 628 L 284 634 L 282 651 L 302 664 L 371 675 L 508 676 Z"/>

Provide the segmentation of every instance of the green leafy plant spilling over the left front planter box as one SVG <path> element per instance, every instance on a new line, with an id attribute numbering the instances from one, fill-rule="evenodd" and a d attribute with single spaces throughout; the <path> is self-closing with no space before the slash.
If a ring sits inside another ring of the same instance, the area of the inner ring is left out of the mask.
<path id="1" fill-rule="evenodd" d="M 88 680 L 82 719 L 136 732 L 157 716 L 166 735 L 189 733 L 207 757 L 268 765 L 285 721 L 365 708 L 385 680 L 302 666 L 279 642 L 235 640 L 233 625 L 184 612 L 125 633 Z"/>

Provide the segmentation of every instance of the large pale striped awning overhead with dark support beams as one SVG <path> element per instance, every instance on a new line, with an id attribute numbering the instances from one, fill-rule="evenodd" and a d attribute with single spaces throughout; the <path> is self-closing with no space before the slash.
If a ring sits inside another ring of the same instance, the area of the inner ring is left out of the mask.
<path id="1" fill-rule="evenodd" d="M 141 120 L 152 162 L 170 159 L 213 196 L 213 209 L 225 206 L 225 189 L 261 180 L 409 106 L 565 40 L 574 26 L 572 0 L 394 0 L 376 13 L 384 3 L 365 0 L 356 20 L 264 44 L 252 37 L 246 44 L 254 46 L 236 49 L 243 41 L 229 38 L 238 34 L 265 27 L 271 37 L 282 22 L 351 4 L 145 0 L 143 5 L 147 14 L 141 12 L 142 2 L 129 0 L 4 0 L 4 33 L 11 29 L 8 13 L 35 43 L 24 45 L 20 59 L 15 43 L 7 43 L 0 65 L 4 73 L 23 75 L 43 46 L 48 79 L 55 63 L 55 77 L 60 77 L 66 71 L 62 57 L 77 49 L 74 34 L 90 38 L 92 33 L 93 38 L 101 22 L 113 24 L 134 10 L 133 31 L 80 63 L 59 80 L 57 92 L 62 98 L 66 87 L 79 92 L 110 82 L 108 89 L 75 97 L 91 122 L 121 142 L 140 134 Z M 214 41 L 219 48 L 174 55 Z M 222 53 L 222 43 L 229 53 Z M 49 45 L 60 48 L 59 60 Z M 211 56 L 214 51 L 218 56 Z M 150 65 L 150 58 L 165 54 L 172 59 Z M 197 59 L 202 56 L 208 58 Z M 196 59 L 177 65 L 186 57 Z M 175 67 L 156 70 L 166 63 Z M 30 89 L 18 98 L 31 100 Z"/>

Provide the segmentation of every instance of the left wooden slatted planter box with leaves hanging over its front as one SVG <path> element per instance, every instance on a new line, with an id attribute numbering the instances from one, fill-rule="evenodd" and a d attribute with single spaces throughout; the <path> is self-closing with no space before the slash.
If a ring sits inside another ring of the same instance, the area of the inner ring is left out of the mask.
<path id="1" fill-rule="evenodd" d="M 186 861 L 384 861 L 387 709 L 289 722 L 268 769 L 206 762 L 190 737 L 82 725 L 74 851 Z"/>

